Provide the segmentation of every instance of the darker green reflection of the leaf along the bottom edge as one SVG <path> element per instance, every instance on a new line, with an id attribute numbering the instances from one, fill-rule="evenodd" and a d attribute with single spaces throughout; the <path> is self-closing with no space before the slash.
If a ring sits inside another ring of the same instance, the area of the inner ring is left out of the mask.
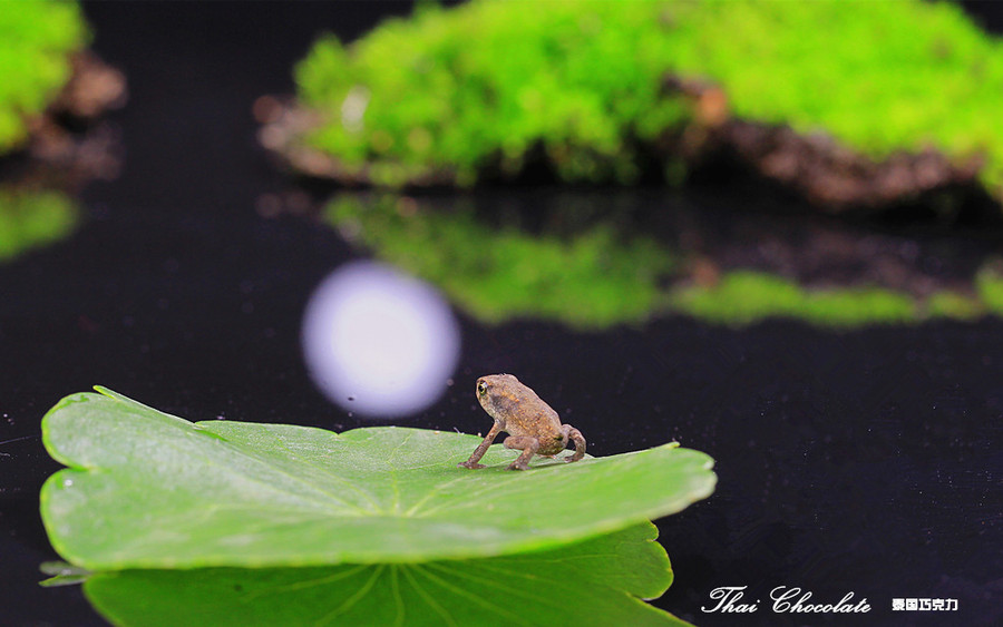
<path id="1" fill-rule="evenodd" d="M 535 553 L 421 564 L 96 572 L 84 591 L 130 627 L 685 625 L 640 600 L 672 582 L 655 535 L 643 523 Z"/>

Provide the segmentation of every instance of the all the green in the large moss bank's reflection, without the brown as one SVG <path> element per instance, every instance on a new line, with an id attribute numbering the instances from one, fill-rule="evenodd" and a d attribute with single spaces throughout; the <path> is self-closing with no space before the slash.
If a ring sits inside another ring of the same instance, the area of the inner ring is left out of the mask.
<path id="1" fill-rule="evenodd" d="M 542 232 L 530 233 L 514 216 L 476 202 L 447 209 L 395 194 L 342 194 L 324 217 L 487 323 L 538 319 L 601 330 L 682 313 L 732 326 L 781 317 L 855 329 L 1003 315 L 1003 264 L 987 263 L 965 292 L 942 288 L 925 298 L 878 286 L 809 287 L 752 270 L 700 283 L 681 272 L 689 253 L 637 233 L 631 219 L 621 219 L 630 218 L 620 215 L 625 207 L 597 216 L 594 203 L 559 197 L 543 209 Z M 546 226 L 555 224 L 573 228 Z"/>

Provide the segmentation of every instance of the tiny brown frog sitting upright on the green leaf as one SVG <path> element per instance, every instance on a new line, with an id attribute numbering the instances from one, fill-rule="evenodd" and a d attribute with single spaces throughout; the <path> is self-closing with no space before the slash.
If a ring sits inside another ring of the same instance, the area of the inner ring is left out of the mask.
<path id="1" fill-rule="evenodd" d="M 568 439 L 575 443 L 575 454 L 564 458 L 564 461 L 578 461 L 585 455 L 585 438 L 582 432 L 571 424 L 561 424 L 557 412 L 515 376 L 481 376 L 477 380 L 476 394 L 484 411 L 495 419 L 495 424 L 470 459 L 458 466 L 484 468 L 483 463 L 477 462 L 501 431 L 509 434 L 503 442 L 506 449 L 523 451 L 509 464 L 508 470 L 526 470 L 526 464 L 534 454 L 556 455 L 567 447 Z"/>

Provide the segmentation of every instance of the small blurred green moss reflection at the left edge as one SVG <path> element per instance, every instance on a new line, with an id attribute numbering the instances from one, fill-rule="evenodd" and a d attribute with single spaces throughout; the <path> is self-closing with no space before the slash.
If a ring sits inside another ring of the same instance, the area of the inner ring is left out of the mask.
<path id="1" fill-rule="evenodd" d="M 66 237 L 78 218 L 74 202 L 59 192 L 0 188 L 0 263 Z"/>

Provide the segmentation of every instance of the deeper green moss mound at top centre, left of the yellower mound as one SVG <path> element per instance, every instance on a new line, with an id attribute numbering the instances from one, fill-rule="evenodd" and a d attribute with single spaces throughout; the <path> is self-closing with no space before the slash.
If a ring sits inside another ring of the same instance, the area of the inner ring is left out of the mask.
<path id="1" fill-rule="evenodd" d="M 475 2 L 391 20 L 345 50 L 319 41 L 296 67 L 300 97 L 331 124 L 310 144 L 348 167 L 401 178 L 518 172 L 538 145 L 566 179 L 632 180 L 634 135 L 678 124 L 660 97 L 653 4 Z M 611 28 L 612 26 L 612 28 Z M 634 50 L 624 55 L 625 50 Z"/>

